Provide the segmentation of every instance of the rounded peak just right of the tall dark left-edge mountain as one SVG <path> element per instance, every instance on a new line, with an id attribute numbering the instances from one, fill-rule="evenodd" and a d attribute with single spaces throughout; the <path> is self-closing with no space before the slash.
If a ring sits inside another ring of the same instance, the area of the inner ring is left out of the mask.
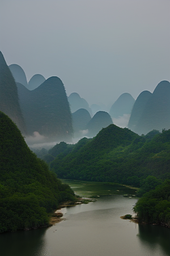
<path id="1" fill-rule="evenodd" d="M 20 84 L 23 84 L 25 87 L 28 88 L 28 82 L 27 78 L 25 76 L 25 72 L 23 71 L 22 67 L 20 67 L 17 64 L 11 64 L 9 65 L 10 71 L 12 72 L 12 75 L 14 76 L 15 82 L 20 82 Z"/>

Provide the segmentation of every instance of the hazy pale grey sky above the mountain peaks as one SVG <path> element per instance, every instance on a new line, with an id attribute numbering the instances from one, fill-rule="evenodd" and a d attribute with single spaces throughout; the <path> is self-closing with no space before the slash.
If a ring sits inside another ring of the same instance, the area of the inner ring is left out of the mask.
<path id="1" fill-rule="evenodd" d="M 169 0 L 0 0 L 0 50 L 91 105 L 170 81 Z"/>

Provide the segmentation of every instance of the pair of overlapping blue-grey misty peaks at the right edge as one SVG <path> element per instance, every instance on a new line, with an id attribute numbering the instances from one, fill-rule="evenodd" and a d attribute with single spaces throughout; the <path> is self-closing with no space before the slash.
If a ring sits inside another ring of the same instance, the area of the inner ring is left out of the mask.
<path id="1" fill-rule="evenodd" d="M 129 129 L 135 133 L 147 134 L 151 130 L 170 128 L 170 83 L 160 82 L 153 93 L 139 94 L 129 120 Z"/>

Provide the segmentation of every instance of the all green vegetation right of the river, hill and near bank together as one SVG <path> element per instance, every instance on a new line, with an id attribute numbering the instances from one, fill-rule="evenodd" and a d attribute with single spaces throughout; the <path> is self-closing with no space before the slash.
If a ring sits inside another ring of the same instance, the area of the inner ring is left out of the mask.
<path id="1" fill-rule="evenodd" d="M 140 187 L 134 207 L 139 221 L 170 227 L 170 130 L 139 136 L 110 125 L 67 152 L 50 163 L 58 177 Z"/>

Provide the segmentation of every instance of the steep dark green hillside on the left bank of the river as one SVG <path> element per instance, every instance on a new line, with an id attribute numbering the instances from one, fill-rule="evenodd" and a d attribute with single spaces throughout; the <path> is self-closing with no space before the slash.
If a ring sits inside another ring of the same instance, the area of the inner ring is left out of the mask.
<path id="1" fill-rule="evenodd" d="M 74 200 L 44 161 L 29 150 L 16 125 L 0 112 L 0 232 L 48 225 L 64 200 Z"/>

